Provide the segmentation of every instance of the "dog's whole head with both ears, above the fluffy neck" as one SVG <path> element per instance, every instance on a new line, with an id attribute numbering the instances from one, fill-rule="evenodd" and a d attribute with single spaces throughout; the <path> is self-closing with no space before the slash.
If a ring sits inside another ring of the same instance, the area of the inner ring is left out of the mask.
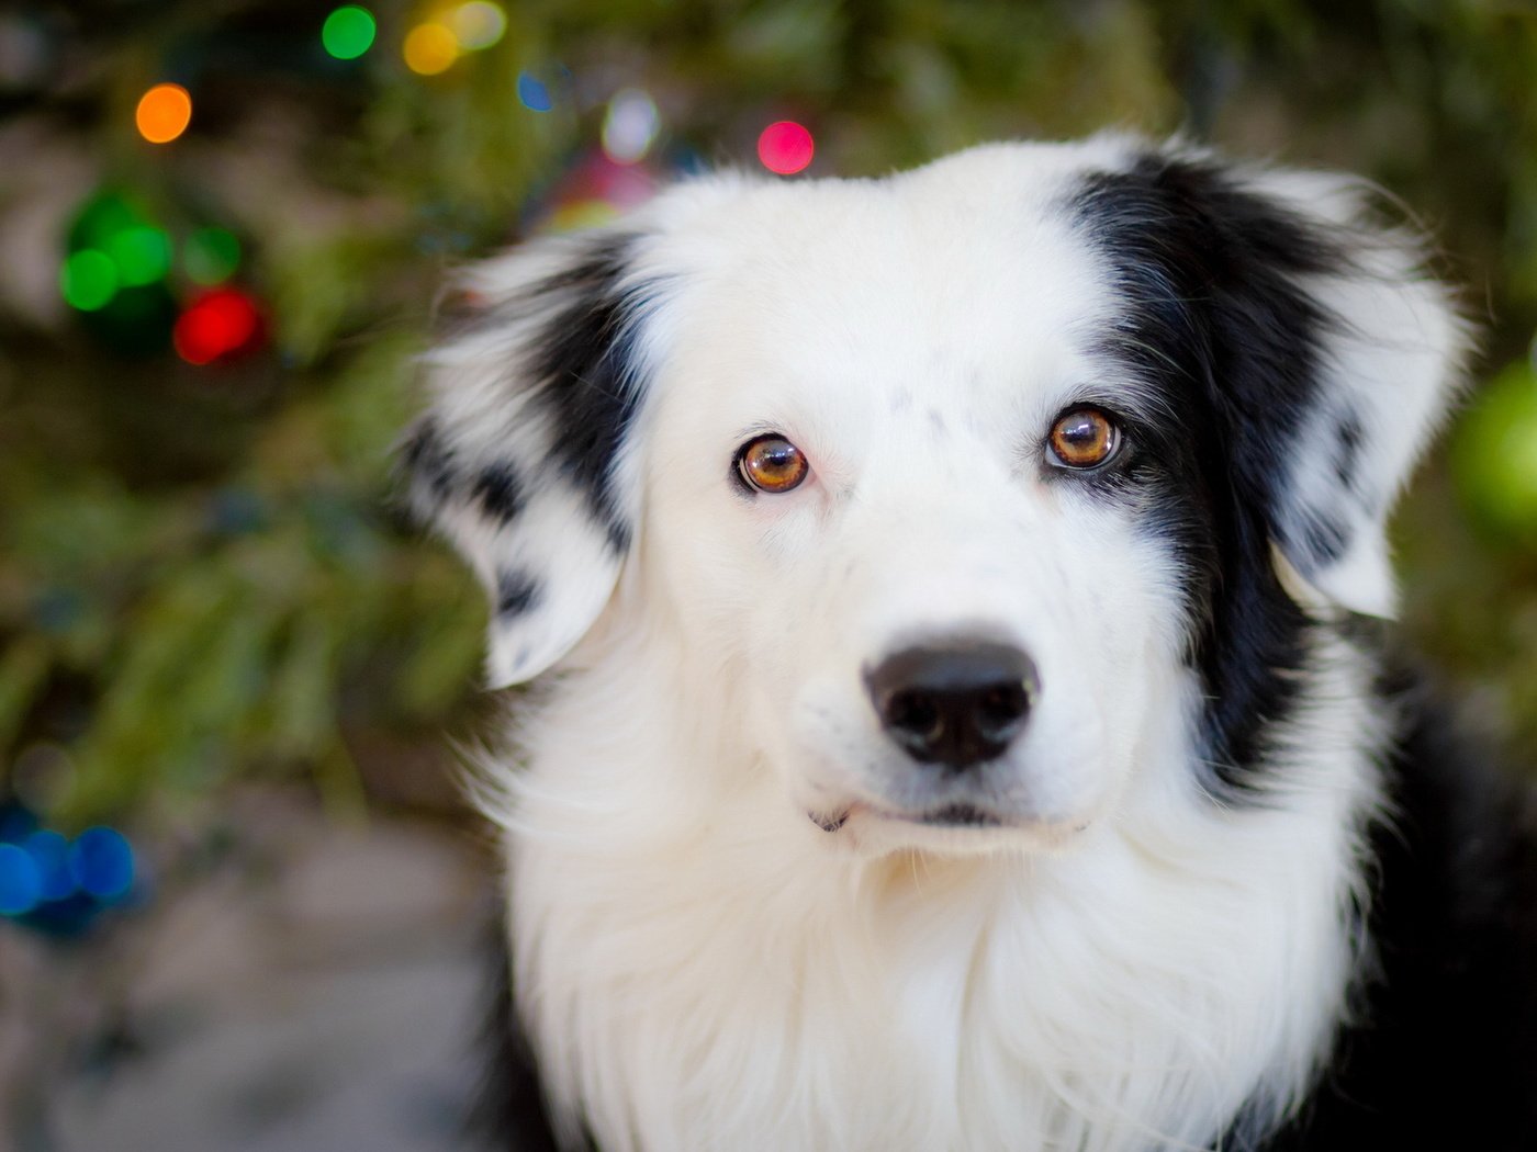
<path id="1" fill-rule="evenodd" d="M 496 684 L 666 621 L 865 845 L 1056 843 L 1171 750 L 1251 786 L 1313 630 L 1393 610 L 1463 344 L 1362 200 L 1122 138 L 696 181 L 473 273 L 413 498 Z"/>

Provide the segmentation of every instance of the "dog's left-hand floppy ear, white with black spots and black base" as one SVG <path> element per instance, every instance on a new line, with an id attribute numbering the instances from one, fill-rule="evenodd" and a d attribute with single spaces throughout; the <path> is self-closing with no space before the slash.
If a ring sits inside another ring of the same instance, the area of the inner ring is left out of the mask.
<path id="1" fill-rule="evenodd" d="M 492 599 L 493 687 L 538 676 L 603 611 L 635 531 L 629 432 L 653 295 L 633 232 L 535 241 L 470 270 L 469 323 L 426 358 L 410 505 Z"/>

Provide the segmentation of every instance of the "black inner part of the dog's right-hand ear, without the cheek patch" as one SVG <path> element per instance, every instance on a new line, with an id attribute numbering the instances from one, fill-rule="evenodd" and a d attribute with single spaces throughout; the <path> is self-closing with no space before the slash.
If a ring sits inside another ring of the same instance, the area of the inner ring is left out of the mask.
<path id="1" fill-rule="evenodd" d="M 1214 413 L 1231 445 L 1231 482 L 1268 535 L 1294 544 L 1279 505 L 1296 438 L 1325 402 L 1330 330 L 1345 323 L 1302 281 L 1348 273 L 1348 249 L 1322 221 L 1243 189 L 1220 166 L 1160 154 L 1090 175 L 1073 209 L 1127 301 L 1108 350 Z M 1306 544 L 1343 535 L 1323 511 L 1310 519 Z"/>

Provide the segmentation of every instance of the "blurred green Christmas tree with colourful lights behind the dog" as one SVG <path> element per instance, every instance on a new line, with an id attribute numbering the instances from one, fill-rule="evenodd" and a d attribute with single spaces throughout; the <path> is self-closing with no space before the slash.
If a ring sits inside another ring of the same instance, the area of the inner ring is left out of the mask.
<path id="1" fill-rule="evenodd" d="M 1408 617 L 1537 751 L 1532 75 L 1537 15 L 1474 0 L 12 8 L 0 837 L 254 777 L 344 811 L 473 731 L 481 596 L 392 482 L 446 270 L 699 166 L 1104 126 L 1360 170 L 1442 237 L 1499 372 L 1399 525 Z"/>

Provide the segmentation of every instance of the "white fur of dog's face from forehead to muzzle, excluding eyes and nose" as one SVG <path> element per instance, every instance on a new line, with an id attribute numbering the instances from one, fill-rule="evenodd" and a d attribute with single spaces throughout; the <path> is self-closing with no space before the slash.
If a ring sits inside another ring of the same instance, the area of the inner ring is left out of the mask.
<path id="1" fill-rule="evenodd" d="M 1044 677 L 1001 802 L 1081 825 L 1130 759 L 1136 677 L 1176 664 L 1173 562 L 1042 482 L 1051 418 L 1114 390 L 1085 350 L 1114 293 L 1057 207 L 1068 175 L 981 151 L 756 187 L 653 249 L 687 273 L 644 416 L 642 561 L 693 642 L 750 662 L 768 760 L 802 800 L 902 802 L 910 765 L 861 673 L 981 634 Z M 807 453 L 812 484 L 733 492 L 733 449 L 764 432 Z"/>

